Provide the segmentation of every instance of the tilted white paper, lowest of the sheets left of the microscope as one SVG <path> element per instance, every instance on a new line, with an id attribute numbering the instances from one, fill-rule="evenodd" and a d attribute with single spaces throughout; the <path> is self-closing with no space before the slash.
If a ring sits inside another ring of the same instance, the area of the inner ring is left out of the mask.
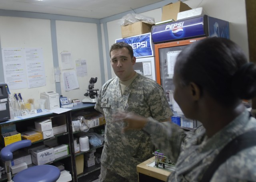
<path id="1" fill-rule="evenodd" d="M 63 80 L 65 83 L 65 90 L 70 91 L 79 88 L 76 72 L 69 71 L 63 73 Z"/>

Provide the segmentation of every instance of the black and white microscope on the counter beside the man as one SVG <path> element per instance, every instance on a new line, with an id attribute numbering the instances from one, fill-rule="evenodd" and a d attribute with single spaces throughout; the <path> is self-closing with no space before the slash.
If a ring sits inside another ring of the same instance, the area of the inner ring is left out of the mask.
<path id="1" fill-rule="evenodd" d="M 97 82 L 97 77 L 91 78 L 89 81 L 89 86 L 87 92 L 84 94 L 86 98 L 82 100 L 83 104 L 96 104 L 99 89 L 94 89 L 94 84 Z"/>

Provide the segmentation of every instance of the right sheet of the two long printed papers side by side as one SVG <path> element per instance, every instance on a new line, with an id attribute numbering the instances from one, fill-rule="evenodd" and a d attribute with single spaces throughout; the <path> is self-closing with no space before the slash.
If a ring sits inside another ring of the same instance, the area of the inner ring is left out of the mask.
<path id="1" fill-rule="evenodd" d="M 42 48 L 25 48 L 28 88 L 46 85 Z"/>

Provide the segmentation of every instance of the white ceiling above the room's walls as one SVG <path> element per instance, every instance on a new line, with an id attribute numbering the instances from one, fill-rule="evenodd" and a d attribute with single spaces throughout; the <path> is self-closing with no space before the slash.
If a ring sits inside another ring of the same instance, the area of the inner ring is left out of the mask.
<path id="1" fill-rule="evenodd" d="M 162 0 L 0 0 L 0 9 L 102 19 Z"/>

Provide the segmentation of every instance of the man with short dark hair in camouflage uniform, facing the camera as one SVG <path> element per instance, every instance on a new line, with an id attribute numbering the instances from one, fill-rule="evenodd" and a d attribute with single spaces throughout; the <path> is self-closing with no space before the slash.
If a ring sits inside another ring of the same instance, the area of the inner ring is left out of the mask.
<path id="1" fill-rule="evenodd" d="M 136 182 L 136 166 L 152 157 L 154 145 L 142 131 L 123 133 L 121 128 L 126 123 L 113 123 L 112 115 L 125 111 L 158 121 L 170 121 L 172 111 L 162 86 L 134 71 L 136 58 L 130 45 L 112 45 L 110 58 L 117 77 L 102 86 L 95 105 L 106 119 L 100 182 Z"/>

